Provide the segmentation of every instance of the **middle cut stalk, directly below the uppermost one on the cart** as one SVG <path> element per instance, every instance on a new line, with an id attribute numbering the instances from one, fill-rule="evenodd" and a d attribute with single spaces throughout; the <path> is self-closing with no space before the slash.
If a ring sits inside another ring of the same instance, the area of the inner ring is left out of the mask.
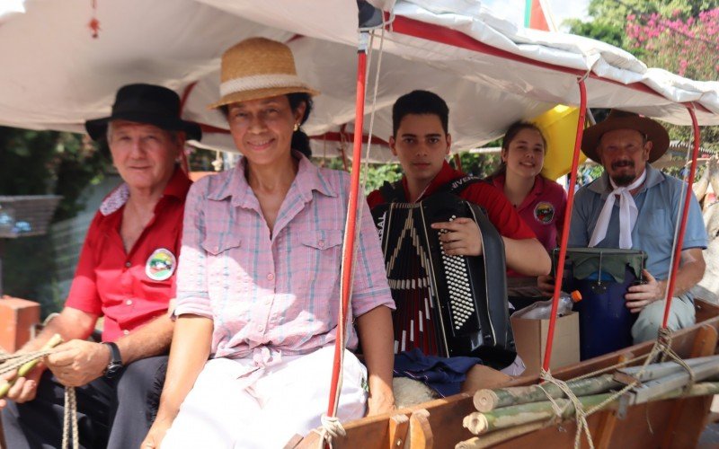
<path id="1" fill-rule="evenodd" d="M 577 399 L 580 401 L 583 409 L 590 409 L 606 401 L 610 396 L 611 393 L 603 393 L 582 396 Z M 573 417 L 574 405 L 572 401 L 555 399 L 555 403 L 560 411 L 559 418 L 567 419 Z M 462 425 L 473 434 L 482 435 L 502 428 L 515 427 L 537 421 L 546 421 L 555 416 L 555 408 L 552 402 L 541 401 L 503 407 L 502 409 L 493 409 L 487 412 L 475 411 L 463 419 Z"/>

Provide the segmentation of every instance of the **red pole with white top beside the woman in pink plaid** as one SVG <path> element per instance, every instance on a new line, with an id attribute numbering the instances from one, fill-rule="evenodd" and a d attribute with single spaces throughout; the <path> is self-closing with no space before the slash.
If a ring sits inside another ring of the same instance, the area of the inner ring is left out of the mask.
<path id="1" fill-rule="evenodd" d="M 330 403 L 327 407 L 327 416 L 334 416 L 335 400 L 337 398 L 337 387 L 340 379 L 340 357 L 344 345 L 341 336 L 345 335 L 347 323 L 347 304 L 351 294 L 352 265 L 354 259 L 354 237 L 357 227 L 357 204 L 359 202 L 359 164 L 362 157 L 362 127 L 365 116 L 365 87 L 367 82 L 367 42 L 368 32 L 363 31 L 359 36 L 359 48 L 357 52 L 357 98 L 355 100 L 354 119 L 354 149 L 352 152 L 352 172 L 350 188 L 350 204 L 347 207 L 347 233 L 344 235 L 344 253 L 342 254 L 342 316 L 345 319 L 337 323 L 337 339 L 334 344 L 334 363 L 332 373 L 332 385 L 330 388 Z"/>

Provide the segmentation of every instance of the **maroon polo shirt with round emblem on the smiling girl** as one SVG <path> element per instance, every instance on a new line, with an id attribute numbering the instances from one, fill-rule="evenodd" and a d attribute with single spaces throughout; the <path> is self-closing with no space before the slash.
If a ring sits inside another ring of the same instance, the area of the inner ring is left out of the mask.
<path id="1" fill-rule="evenodd" d="M 494 187 L 504 192 L 505 174 L 492 178 Z M 562 233 L 564 209 L 567 207 L 567 192 L 553 180 L 537 176 L 534 187 L 522 204 L 517 207 L 519 216 L 532 228 L 546 251 L 550 254 L 557 247 L 557 235 Z"/>

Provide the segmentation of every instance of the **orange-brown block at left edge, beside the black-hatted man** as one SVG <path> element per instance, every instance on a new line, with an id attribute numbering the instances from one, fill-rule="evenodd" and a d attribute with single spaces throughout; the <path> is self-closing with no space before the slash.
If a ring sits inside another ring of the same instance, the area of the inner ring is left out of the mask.
<path id="1" fill-rule="evenodd" d="M 38 322 L 40 304 L 7 295 L 0 298 L 0 348 L 11 353 L 20 349 Z"/>

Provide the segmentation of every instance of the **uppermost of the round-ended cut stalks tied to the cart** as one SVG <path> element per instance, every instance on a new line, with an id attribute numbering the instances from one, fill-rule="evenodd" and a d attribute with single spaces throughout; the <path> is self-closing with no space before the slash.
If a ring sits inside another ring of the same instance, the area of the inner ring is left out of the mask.
<path id="1" fill-rule="evenodd" d="M 617 382 L 612 377 L 612 374 L 603 374 L 597 377 L 570 381 L 567 382 L 567 386 L 575 396 L 589 396 L 590 394 L 608 392 L 613 388 L 623 386 L 623 384 Z M 546 401 L 547 394 L 552 398 L 564 398 L 564 392 L 554 383 L 543 383 L 542 388 L 537 385 L 529 385 L 495 390 L 483 389 L 475 392 L 473 401 L 478 411 L 492 411 L 502 407 Z"/>

